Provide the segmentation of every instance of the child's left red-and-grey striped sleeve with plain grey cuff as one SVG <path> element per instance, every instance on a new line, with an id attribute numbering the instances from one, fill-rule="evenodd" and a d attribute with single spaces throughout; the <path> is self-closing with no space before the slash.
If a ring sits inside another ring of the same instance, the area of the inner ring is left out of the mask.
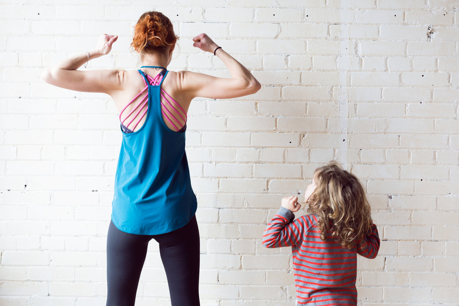
<path id="1" fill-rule="evenodd" d="M 267 248 L 301 245 L 305 233 L 304 218 L 300 217 L 291 222 L 294 217 L 293 212 L 280 207 L 264 230 L 263 245 Z"/>

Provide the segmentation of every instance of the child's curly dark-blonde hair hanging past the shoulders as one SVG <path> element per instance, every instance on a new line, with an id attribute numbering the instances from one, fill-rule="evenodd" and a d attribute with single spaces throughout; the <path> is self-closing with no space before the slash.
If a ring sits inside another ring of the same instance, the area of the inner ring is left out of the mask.
<path id="1" fill-rule="evenodd" d="M 336 161 L 317 168 L 314 182 L 317 187 L 306 203 L 308 212 L 319 217 L 320 238 L 325 241 L 331 232 L 332 239 L 351 249 L 373 223 L 364 187 Z"/>

